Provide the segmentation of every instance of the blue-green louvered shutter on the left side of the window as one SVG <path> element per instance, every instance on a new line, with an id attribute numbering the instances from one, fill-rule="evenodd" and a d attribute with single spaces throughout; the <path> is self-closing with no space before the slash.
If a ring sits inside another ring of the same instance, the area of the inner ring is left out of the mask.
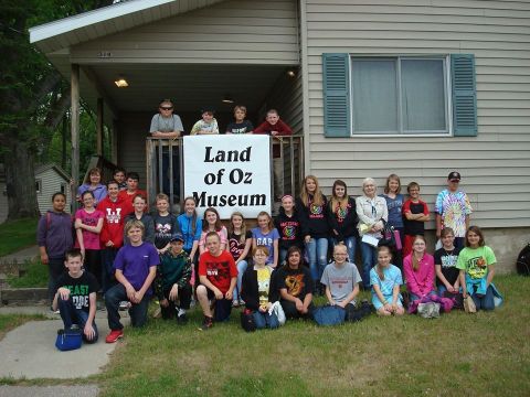
<path id="1" fill-rule="evenodd" d="M 350 137 L 350 73 L 348 54 L 322 54 L 324 132 Z"/>

